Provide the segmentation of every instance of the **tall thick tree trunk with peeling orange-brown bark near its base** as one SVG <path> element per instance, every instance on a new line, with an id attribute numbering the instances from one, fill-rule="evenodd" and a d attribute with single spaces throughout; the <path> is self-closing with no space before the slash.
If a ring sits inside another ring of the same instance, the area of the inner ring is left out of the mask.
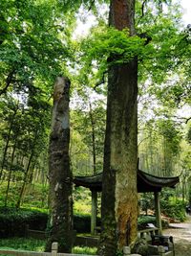
<path id="1" fill-rule="evenodd" d="M 134 29 L 135 0 L 112 0 L 110 25 Z M 111 57 L 112 58 L 112 57 Z M 138 61 L 109 69 L 100 253 L 114 256 L 137 237 Z"/>

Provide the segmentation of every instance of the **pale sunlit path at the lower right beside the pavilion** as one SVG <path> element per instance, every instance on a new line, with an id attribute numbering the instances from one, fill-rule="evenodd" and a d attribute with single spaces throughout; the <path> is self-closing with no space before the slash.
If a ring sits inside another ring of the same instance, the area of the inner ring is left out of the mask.
<path id="1" fill-rule="evenodd" d="M 191 216 L 182 223 L 171 223 L 163 235 L 173 236 L 175 256 L 191 256 Z"/>

